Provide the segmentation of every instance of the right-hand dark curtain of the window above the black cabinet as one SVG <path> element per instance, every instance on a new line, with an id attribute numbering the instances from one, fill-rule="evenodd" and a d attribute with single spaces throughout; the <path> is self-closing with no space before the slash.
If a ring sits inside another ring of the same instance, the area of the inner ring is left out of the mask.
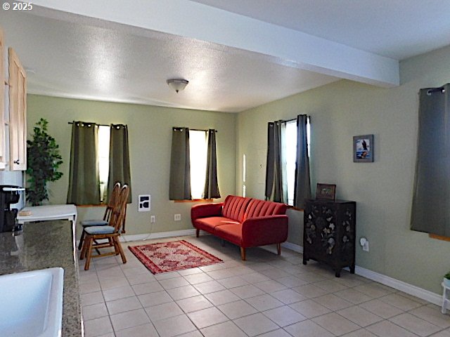
<path id="1" fill-rule="evenodd" d="M 297 116 L 297 156 L 295 158 L 294 206 L 304 208 L 304 199 L 311 198 L 309 177 L 308 137 L 306 114 Z"/>

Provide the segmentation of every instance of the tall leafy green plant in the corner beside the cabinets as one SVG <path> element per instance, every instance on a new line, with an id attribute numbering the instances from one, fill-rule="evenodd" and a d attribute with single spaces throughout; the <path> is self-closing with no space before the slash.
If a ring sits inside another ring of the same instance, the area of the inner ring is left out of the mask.
<path id="1" fill-rule="evenodd" d="M 32 206 L 42 204 L 49 199 L 47 182 L 55 181 L 63 176 L 58 171 L 63 164 L 59 154 L 59 146 L 55 138 L 47 133 L 46 119 L 39 119 L 33 128 L 32 139 L 27 140 L 27 201 Z"/>

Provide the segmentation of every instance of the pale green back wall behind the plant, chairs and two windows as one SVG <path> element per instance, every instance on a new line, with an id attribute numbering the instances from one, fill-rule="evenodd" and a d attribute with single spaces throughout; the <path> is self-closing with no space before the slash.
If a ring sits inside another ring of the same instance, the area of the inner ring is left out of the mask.
<path id="1" fill-rule="evenodd" d="M 28 95 L 29 134 L 41 117 L 49 120 L 49 133 L 60 145 L 64 160 L 63 178 L 49 185 L 51 204 L 65 204 L 67 197 L 71 135 L 68 121 L 128 125 L 133 203 L 127 209 L 127 234 L 192 228 L 192 203 L 169 201 L 172 126 L 217 129 L 219 188 L 223 197 L 235 193 L 236 114 Z M 150 212 L 137 211 L 138 194 L 151 194 Z M 103 207 L 78 207 L 79 220 L 101 218 L 103 211 Z M 181 221 L 174 221 L 175 213 L 181 213 Z M 154 226 L 150 224 L 150 215 L 156 216 Z"/>

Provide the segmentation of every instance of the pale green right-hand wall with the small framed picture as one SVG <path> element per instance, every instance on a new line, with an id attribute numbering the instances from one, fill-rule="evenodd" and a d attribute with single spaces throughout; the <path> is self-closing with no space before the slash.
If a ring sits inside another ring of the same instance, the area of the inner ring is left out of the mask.
<path id="1" fill-rule="evenodd" d="M 354 200 L 356 265 L 440 293 L 450 270 L 450 244 L 409 230 L 418 128 L 418 91 L 450 80 L 450 47 L 401 62 L 401 86 L 378 88 L 337 81 L 238 115 L 236 190 L 264 197 L 268 121 L 311 116 L 311 183 L 336 184 L 338 199 Z M 352 137 L 373 134 L 375 161 L 354 163 Z M 302 245 L 302 212 L 290 212 L 289 241 Z"/>

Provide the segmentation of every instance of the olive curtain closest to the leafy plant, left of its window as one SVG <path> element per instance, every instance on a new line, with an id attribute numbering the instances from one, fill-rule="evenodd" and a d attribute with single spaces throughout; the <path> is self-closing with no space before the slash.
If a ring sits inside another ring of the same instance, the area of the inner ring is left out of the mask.
<path id="1" fill-rule="evenodd" d="M 73 121 L 70 145 L 68 204 L 100 204 L 98 126 Z"/>

